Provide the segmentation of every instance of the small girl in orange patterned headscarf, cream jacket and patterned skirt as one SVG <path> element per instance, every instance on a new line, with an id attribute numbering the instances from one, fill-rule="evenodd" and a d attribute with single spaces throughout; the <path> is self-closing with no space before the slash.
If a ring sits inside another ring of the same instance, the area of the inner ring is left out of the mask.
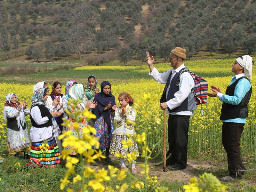
<path id="1" fill-rule="evenodd" d="M 127 169 L 124 164 L 124 158 L 127 158 L 128 153 L 136 152 L 136 156 L 139 156 L 138 146 L 135 141 L 130 148 L 123 148 L 122 140 L 128 140 L 127 133 L 134 134 L 134 125 L 128 124 L 127 121 L 134 122 L 136 117 L 136 109 L 132 107 L 133 100 L 132 96 L 127 92 L 122 92 L 118 96 L 121 107 L 116 108 L 114 120 L 116 121 L 116 129 L 113 132 L 113 138 L 110 145 L 110 153 L 117 156 L 116 153 L 122 154 L 124 157 L 119 157 L 122 169 Z M 132 173 L 137 173 L 135 164 L 132 164 Z"/>

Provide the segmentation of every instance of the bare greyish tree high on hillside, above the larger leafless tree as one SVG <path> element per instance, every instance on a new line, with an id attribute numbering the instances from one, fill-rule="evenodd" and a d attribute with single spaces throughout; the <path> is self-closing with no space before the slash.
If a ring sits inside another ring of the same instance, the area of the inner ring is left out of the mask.
<path id="1" fill-rule="evenodd" d="M 97 13 L 91 7 L 83 5 L 74 9 L 67 15 L 70 23 L 80 25 L 81 23 L 92 23 L 92 20 L 97 16 Z"/>

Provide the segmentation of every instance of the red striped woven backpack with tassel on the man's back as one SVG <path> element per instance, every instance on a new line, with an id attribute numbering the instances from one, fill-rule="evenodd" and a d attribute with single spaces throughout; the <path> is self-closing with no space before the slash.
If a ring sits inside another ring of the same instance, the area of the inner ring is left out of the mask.
<path id="1" fill-rule="evenodd" d="M 207 95 L 205 92 L 208 90 L 208 81 L 203 79 L 202 77 L 197 76 L 193 72 L 191 72 L 188 68 L 185 68 L 181 71 L 180 75 L 184 72 L 188 71 L 190 75 L 195 80 L 195 90 L 191 90 L 191 92 L 194 94 L 196 105 L 201 105 L 201 115 L 204 115 L 202 104 L 207 102 Z M 178 82 L 176 86 L 179 86 L 180 84 L 180 75 L 178 77 Z"/>

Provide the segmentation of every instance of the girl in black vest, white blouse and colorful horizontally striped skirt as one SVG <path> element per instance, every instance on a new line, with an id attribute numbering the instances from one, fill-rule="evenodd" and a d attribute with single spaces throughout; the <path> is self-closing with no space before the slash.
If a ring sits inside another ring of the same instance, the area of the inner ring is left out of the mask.
<path id="1" fill-rule="evenodd" d="M 60 163 L 60 158 L 58 157 L 60 155 L 60 151 L 52 134 L 52 117 L 60 116 L 61 112 L 55 110 L 50 112 L 50 108 L 52 106 L 49 107 L 47 105 L 47 98 L 47 90 L 39 88 L 34 92 L 31 99 L 32 105 L 30 120 L 32 127 L 29 133 L 32 147 L 30 149 L 30 160 L 34 161 L 40 167 L 56 167 L 56 164 Z M 46 141 L 47 145 L 45 144 Z M 45 155 L 39 147 L 43 144 L 48 149 L 48 153 L 45 153 Z"/>

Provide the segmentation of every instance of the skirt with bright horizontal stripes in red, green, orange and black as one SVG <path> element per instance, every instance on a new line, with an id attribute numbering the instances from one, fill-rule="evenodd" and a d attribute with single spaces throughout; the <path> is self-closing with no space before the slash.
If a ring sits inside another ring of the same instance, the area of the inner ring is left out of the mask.
<path id="1" fill-rule="evenodd" d="M 56 165 L 60 163 L 59 155 L 60 151 L 54 137 L 49 139 L 47 142 L 32 142 L 30 160 L 37 160 L 39 167 L 56 167 Z"/>

